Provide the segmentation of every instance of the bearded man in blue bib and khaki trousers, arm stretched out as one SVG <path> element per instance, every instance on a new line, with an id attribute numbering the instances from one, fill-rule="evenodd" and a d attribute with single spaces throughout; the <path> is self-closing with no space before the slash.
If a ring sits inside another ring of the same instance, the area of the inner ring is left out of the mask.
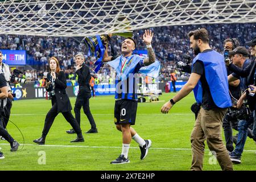
<path id="1" fill-rule="evenodd" d="M 191 170 L 203 170 L 204 141 L 207 140 L 209 150 L 216 152 L 221 169 L 233 171 L 228 150 L 221 137 L 224 115 L 227 108 L 232 106 L 224 57 L 210 48 L 209 34 L 205 28 L 189 32 L 188 37 L 190 47 L 196 55 L 192 62 L 191 76 L 180 92 L 162 106 L 161 112 L 168 113 L 176 102 L 193 90 L 201 109 L 191 134 Z"/>

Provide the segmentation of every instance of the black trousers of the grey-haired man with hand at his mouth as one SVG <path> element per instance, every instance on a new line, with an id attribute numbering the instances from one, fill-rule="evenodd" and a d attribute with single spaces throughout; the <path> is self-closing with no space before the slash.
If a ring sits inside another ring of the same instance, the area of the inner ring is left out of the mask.
<path id="1" fill-rule="evenodd" d="M 90 107 L 89 107 L 90 97 L 91 97 L 90 94 L 81 94 L 77 96 L 75 108 L 74 108 L 75 117 L 76 117 L 77 123 L 79 123 L 79 126 L 80 126 L 80 117 L 81 117 L 80 110 L 82 108 L 84 110 L 84 114 L 86 115 L 86 117 L 90 122 L 90 127 L 92 129 L 96 129 L 96 123 L 93 119 L 92 113 L 90 113 Z"/>

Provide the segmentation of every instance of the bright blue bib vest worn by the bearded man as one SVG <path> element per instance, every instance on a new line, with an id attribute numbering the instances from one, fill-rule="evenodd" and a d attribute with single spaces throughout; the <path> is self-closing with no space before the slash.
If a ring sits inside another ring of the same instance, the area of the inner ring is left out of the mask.
<path id="1" fill-rule="evenodd" d="M 220 108 L 232 106 L 229 96 L 228 74 L 226 72 L 224 56 L 216 51 L 199 53 L 192 62 L 200 60 L 204 64 L 205 78 L 210 88 L 214 103 Z M 196 102 L 201 104 L 203 101 L 203 89 L 201 81 L 193 89 Z"/>

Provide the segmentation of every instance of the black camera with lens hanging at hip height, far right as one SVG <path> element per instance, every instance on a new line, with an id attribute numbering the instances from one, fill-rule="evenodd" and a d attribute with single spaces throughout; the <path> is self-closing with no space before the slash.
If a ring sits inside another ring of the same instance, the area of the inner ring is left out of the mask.
<path id="1" fill-rule="evenodd" d="M 227 119 L 248 119 L 250 116 L 250 109 L 246 107 L 244 104 L 241 109 L 238 110 L 228 110 L 226 114 Z"/>

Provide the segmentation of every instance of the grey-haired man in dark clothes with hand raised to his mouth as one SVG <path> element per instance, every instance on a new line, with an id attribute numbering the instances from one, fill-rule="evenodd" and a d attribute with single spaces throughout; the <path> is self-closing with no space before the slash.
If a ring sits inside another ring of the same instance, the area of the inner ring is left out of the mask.
<path id="1" fill-rule="evenodd" d="M 84 110 L 84 113 L 86 117 L 88 118 L 90 122 L 90 130 L 86 133 L 98 133 L 98 130 L 96 128 L 96 123 L 93 119 L 92 113 L 90 113 L 90 107 L 89 107 L 89 99 L 92 97 L 91 90 L 90 90 L 90 69 L 88 66 L 84 63 L 84 55 L 82 53 L 79 53 L 75 56 L 76 59 L 76 74 L 78 75 L 78 83 L 79 83 L 79 93 L 76 98 L 76 104 L 75 104 L 75 117 L 76 121 L 79 123 L 80 126 L 80 110 L 81 107 Z M 66 131 L 68 134 L 72 134 L 75 131 L 73 129 L 70 129 Z"/>

